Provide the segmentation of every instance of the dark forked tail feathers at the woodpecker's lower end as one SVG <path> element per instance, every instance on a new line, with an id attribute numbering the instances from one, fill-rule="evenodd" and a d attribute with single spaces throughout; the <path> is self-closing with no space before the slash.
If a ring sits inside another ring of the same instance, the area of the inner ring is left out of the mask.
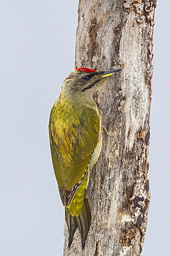
<path id="1" fill-rule="evenodd" d="M 74 237 L 74 233 L 75 233 L 76 229 L 78 228 L 78 230 L 81 233 L 82 248 L 85 248 L 85 241 L 87 239 L 89 227 L 91 225 L 91 212 L 89 210 L 88 199 L 84 198 L 84 203 L 83 203 L 81 212 L 78 215 L 78 217 L 72 216 L 69 208 L 65 208 L 65 219 L 66 219 L 67 227 L 69 230 L 68 247 L 70 248 L 70 246 L 72 244 L 72 239 Z"/>

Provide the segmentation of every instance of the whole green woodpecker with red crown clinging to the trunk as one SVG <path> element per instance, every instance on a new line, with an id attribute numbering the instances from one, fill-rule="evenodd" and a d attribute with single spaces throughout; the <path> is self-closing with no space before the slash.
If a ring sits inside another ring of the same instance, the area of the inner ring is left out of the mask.
<path id="1" fill-rule="evenodd" d="M 89 172 L 96 164 L 102 147 L 100 114 L 92 94 L 107 74 L 108 71 L 96 72 L 88 68 L 78 68 L 70 73 L 50 113 L 50 149 L 65 206 L 69 247 L 78 228 L 84 248 L 91 223 L 86 189 Z"/>

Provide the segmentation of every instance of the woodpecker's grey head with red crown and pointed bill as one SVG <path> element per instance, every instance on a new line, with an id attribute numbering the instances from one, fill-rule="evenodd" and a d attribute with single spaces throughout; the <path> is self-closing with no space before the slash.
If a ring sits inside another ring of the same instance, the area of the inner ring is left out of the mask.
<path id="1" fill-rule="evenodd" d="M 103 78 L 114 75 L 121 70 L 121 68 L 118 68 L 97 72 L 90 68 L 77 68 L 65 78 L 61 91 L 71 97 L 92 95 L 96 87 L 102 84 Z"/>

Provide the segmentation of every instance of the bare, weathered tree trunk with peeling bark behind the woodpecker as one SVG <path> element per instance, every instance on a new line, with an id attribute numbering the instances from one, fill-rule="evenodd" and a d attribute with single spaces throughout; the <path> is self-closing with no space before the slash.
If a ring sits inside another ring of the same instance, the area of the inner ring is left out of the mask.
<path id="1" fill-rule="evenodd" d="M 92 226 L 85 250 L 74 235 L 64 255 L 140 255 L 147 227 L 149 112 L 156 0 L 79 1 L 76 67 L 123 68 L 94 98 L 103 125 L 103 149 L 90 176 Z"/>

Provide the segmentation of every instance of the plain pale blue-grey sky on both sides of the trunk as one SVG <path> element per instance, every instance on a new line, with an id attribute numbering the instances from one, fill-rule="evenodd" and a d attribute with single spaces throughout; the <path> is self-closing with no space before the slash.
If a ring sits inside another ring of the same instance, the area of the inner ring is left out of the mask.
<path id="1" fill-rule="evenodd" d="M 1 0 L 0 255 L 63 255 L 64 208 L 47 125 L 74 69 L 78 0 Z M 169 256 L 170 1 L 158 0 L 154 28 L 149 181 L 142 256 Z"/>

